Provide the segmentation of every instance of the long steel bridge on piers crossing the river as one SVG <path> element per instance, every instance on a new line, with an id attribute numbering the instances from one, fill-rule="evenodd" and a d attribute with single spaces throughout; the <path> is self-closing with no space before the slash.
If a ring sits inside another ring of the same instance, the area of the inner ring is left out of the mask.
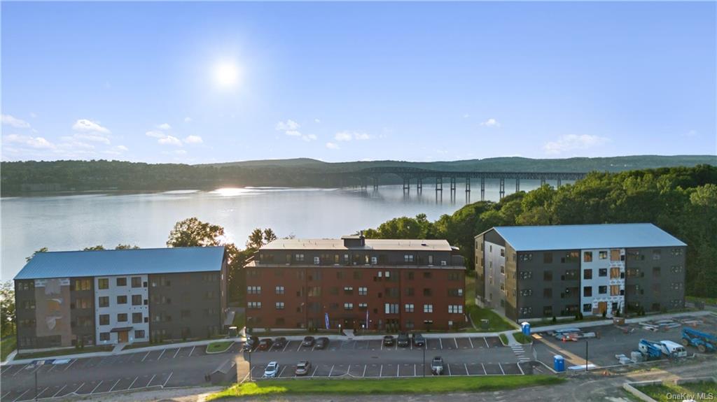
<path id="1" fill-rule="evenodd" d="M 450 191 L 456 191 L 457 180 L 465 182 L 465 192 L 470 192 L 471 180 L 480 180 L 480 200 L 485 200 L 485 180 L 498 180 L 500 182 L 500 198 L 505 197 L 505 180 L 515 180 L 516 192 L 521 190 L 521 180 L 540 180 L 541 185 L 547 180 L 554 180 L 557 187 L 560 187 L 563 180 L 579 180 L 585 177 L 587 173 L 579 172 L 473 172 L 473 171 L 455 171 L 455 170 L 428 170 L 417 167 L 369 167 L 366 169 L 355 170 L 353 172 L 338 173 L 344 179 L 358 180 L 361 188 L 369 186 L 369 182 L 374 186 L 374 190 L 379 187 L 379 177 L 383 175 L 396 175 L 403 180 L 404 192 L 411 190 L 411 182 L 416 183 L 417 191 L 423 189 L 424 180 L 435 179 L 436 192 L 443 191 L 443 180 L 450 181 Z"/>

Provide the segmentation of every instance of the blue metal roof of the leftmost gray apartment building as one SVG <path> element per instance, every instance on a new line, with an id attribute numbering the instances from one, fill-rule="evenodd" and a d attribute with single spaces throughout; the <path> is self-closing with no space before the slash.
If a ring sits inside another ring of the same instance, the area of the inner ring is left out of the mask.
<path id="1" fill-rule="evenodd" d="M 15 279 L 219 271 L 223 258 L 223 246 L 37 253 Z"/>

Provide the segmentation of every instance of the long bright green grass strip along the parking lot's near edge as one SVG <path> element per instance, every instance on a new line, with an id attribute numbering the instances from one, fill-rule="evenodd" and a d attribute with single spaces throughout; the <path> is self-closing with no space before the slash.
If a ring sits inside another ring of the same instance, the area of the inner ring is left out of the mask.
<path id="1" fill-rule="evenodd" d="M 376 395 L 381 393 L 452 393 L 493 391 L 564 381 L 555 376 L 427 377 L 363 380 L 271 380 L 236 384 L 206 398 L 296 394 Z"/>

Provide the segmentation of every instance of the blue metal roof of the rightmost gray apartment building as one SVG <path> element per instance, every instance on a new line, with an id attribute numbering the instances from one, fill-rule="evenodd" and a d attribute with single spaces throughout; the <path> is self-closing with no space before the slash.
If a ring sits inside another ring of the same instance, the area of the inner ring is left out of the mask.
<path id="1" fill-rule="evenodd" d="M 686 246 L 652 223 L 496 226 L 493 229 L 517 251 Z"/>

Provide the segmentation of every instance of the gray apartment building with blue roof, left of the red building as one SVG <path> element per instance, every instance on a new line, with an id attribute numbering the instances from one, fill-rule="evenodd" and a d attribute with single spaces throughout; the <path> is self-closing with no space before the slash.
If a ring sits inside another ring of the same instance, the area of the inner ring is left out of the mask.
<path id="1" fill-rule="evenodd" d="M 18 350 L 207 338 L 227 308 L 224 247 L 37 253 L 14 281 Z"/>

